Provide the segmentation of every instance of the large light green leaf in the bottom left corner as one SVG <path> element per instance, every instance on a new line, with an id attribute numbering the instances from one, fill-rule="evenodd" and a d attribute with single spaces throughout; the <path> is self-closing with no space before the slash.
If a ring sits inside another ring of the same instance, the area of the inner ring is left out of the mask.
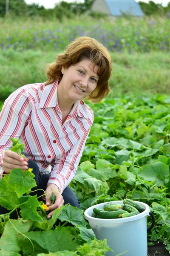
<path id="1" fill-rule="evenodd" d="M 2 255 L 6 255 L 6 252 L 11 253 L 10 255 L 12 255 L 12 253 L 18 253 L 20 251 L 20 246 L 18 244 L 17 235 L 19 232 L 28 232 L 32 225 L 32 221 L 22 221 L 19 219 L 11 219 L 8 221 L 0 238 L 0 253 Z"/>

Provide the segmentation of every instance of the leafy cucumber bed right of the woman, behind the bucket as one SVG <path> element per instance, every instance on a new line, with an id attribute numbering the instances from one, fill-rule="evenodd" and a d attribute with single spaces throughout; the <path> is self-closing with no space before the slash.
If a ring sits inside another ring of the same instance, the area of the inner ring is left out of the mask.
<path id="1" fill-rule="evenodd" d="M 170 250 L 170 97 L 122 96 L 91 108 L 94 125 L 71 182 L 82 209 L 142 201 L 156 219 L 148 245 L 159 241 Z"/>

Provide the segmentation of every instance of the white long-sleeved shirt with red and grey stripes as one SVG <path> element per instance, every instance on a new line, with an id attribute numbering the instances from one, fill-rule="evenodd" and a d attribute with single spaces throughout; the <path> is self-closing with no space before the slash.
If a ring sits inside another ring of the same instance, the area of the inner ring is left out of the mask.
<path id="1" fill-rule="evenodd" d="M 94 116 L 79 100 L 62 125 L 57 85 L 58 79 L 46 86 L 27 84 L 6 99 L 0 113 L 0 173 L 4 152 L 12 147 L 9 137 L 20 138 L 23 154 L 42 175 L 51 173 L 48 185 L 56 184 L 62 193 L 76 173 Z"/>

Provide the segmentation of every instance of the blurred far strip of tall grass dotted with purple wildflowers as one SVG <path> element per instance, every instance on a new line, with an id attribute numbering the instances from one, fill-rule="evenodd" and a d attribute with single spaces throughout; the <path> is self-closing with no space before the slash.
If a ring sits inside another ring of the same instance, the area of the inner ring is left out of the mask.
<path id="1" fill-rule="evenodd" d="M 0 46 L 16 50 L 63 50 L 69 41 L 82 35 L 99 40 L 109 51 L 169 51 L 170 20 L 161 17 L 94 19 L 87 15 L 74 20 L 0 20 Z"/>

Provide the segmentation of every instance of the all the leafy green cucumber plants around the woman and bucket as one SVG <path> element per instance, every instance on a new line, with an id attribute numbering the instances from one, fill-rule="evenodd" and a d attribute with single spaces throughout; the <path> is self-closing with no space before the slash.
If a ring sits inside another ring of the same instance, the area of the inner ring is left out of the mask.
<path id="1" fill-rule="evenodd" d="M 122 96 L 105 99 L 91 108 L 94 124 L 70 184 L 82 210 L 124 198 L 148 204 L 156 219 L 148 234 L 148 245 L 159 242 L 168 254 L 170 97 Z M 32 175 L 29 171 L 20 172 L 19 178 L 17 172 L 17 186 L 12 182 L 16 180 L 15 171 L 0 181 L 0 203 L 3 202 L 9 210 L 22 204 L 23 217 L 12 220 L 8 215 L 1 216 L 0 256 L 105 255 L 108 251 L 106 241 L 95 239 L 82 210 L 67 205 L 57 209 L 47 220 L 37 198 L 30 197 L 31 193 L 24 195 L 34 186 Z M 24 179 L 28 186 L 21 192 L 19 187 L 23 187 Z M 57 219 L 60 222 L 55 226 Z M 148 225 L 150 221 L 148 218 Z M 72 226 L 67 226 L 68 223 Z"/>

